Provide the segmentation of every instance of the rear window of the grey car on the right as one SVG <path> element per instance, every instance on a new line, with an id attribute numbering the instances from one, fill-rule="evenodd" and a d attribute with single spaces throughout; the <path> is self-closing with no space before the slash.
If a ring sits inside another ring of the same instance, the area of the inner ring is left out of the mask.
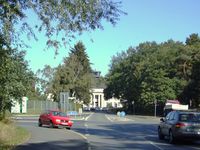
<path id="1" fill-rule="evenodd" d="M 184 121 L 184 122 L 198 122 L 198 123 L 200 123 L 200 114 L 195 114 L 195 113 L 180 114 L 179 120 Z"/>

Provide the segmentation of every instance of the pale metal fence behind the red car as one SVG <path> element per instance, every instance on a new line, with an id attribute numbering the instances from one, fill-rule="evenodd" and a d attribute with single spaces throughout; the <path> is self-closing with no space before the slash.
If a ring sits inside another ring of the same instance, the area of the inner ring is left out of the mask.
<path id="1" fill-rule="evenodd" d="M 52 102 L 49 100 L 29 100 L 27 101 L 27 113 L 28 114 L 40 114 L 44 110 L 56 110 L 61 109 L 64 112 L 77 111 L 77 105 L 71 100 L 66 100 L 64 103 Z"/>

